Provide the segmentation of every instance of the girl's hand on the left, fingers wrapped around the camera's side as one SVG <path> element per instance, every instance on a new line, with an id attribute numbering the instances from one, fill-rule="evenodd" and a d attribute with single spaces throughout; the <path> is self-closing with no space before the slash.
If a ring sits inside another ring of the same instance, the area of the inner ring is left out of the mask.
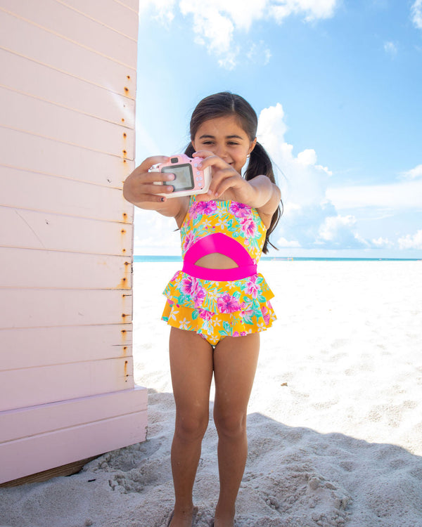
<path id="1" fill-rule="evenodd" d="M 154 181 L 172 181 L 174 174 L 148 172 L 154 164 L 167 162 L 170 157 L 155 155 L 147 157 L 139 167 L 136 167 L 123 184 L 124 199 L 141 208 L 155 208 L 151 204 L 163 203 L 166 198 L 158 193 L 172 193 L 171 185 L 154 185 Z M 148 205 L 149 204 L 149 205 Z"/>

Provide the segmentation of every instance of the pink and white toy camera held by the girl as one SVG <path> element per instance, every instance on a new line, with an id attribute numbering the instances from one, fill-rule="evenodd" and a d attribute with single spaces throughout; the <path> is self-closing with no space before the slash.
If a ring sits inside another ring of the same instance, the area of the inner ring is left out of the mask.
<path id="1" fill-rule="evenodd" d="M 155 165 L 150 172 L 170 172 L 174 174 L 173 181 L 154 181 L 155 185 L 171 185 L 172 193 L 159 193 L 160 196 L 179 197 L 192 194 L 205 194 L 211 183 L 211 167 L 198 169 L 202 157 L 188 157 L 186 154 L 172 155 L 170 161 Z"/>

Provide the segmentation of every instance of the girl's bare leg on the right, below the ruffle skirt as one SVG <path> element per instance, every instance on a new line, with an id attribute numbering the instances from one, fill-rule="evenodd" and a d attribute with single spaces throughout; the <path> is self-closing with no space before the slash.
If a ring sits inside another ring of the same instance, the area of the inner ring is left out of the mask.
<path id="1" fill-rule="evenodd" d="M 260 351 L 260 335 L 225 337 L 215 347 L 215 405 L 220 493 L 215 527 L 232 527 L 248 455 L 246 415 Z"/>

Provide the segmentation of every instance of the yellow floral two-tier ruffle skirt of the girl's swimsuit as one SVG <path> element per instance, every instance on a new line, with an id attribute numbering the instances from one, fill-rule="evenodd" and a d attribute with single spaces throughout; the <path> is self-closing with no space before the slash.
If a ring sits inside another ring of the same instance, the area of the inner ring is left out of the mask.
<path id="1" fill-rule="evenodd" d="M 276 315 L 274 297 L 257 273 L 241 280 L 217 282 L 178 271 L 164 291 L 162 320 L 181 330 L 195 331 L 215 346 L 224 337 L 243 337 L 270 327 Z"/>

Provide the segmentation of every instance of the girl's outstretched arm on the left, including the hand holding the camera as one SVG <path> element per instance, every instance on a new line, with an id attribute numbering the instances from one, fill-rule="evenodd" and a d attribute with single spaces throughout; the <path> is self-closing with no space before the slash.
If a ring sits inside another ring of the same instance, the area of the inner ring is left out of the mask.
<path id="1" fill-rule="evenodd" d="M 162 174 L 161 172 L 148 172 L 153 164 L 164 163 L 168 161 L 168 157 L 157 155 L 154 157 L 147 157 L 139 167 L 136 167 L 132 174 L 127 176 L 123 183 L 124 199 L 130 203 L 140 207 L 141 209 L 155 210 L 160 212 L 163 216 L 172 216 L 177 220 L 183 221 L 186 214 L 188 198 L 172 197 L 168 200 L 167 197 L 159 196 L 158 193 L 172 193 L 172 186 L 158 186 L 154 185 L 154 181 L 172 181 L 173 174 Z M 181 216 L 183 215 L 183 218 Z M 180 222 L 181 223 L 181 222 Z"/>

